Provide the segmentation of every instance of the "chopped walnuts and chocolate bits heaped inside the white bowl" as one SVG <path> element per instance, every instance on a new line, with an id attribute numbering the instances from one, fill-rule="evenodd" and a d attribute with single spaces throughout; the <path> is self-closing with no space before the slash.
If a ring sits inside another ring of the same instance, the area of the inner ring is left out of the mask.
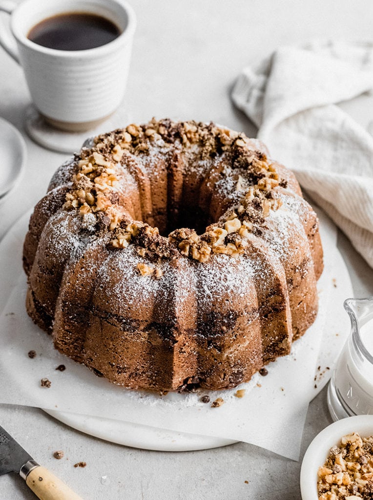
<path id="1" fill-rule="evenodd" d="M 318 468 L 318 500 L 370 500 L 373 492 L 373 436 L 356 432 L 341 438 L 330 448 L 324 465 Z"/>

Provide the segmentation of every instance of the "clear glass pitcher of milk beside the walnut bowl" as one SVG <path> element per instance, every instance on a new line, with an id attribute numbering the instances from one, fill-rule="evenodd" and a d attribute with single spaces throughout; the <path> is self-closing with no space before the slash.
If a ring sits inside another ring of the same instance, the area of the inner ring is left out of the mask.
<path id="1" fill-rule="evenodd" d="M 333 420 L 373 414 L 373 296 L 347 298 L 343 305 L 351 331 L 327 391 Z"/>

